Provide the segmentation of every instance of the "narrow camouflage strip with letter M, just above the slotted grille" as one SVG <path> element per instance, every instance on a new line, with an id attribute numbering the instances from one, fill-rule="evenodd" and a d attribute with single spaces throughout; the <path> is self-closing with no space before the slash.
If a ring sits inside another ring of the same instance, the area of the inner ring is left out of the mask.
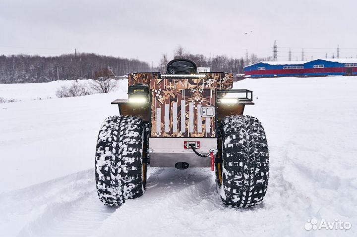
<path id="1" fill-rule="evenodd" d="M 214 79 L 151 79 L 151 89 L 215 89 L 217 81 Z"/>

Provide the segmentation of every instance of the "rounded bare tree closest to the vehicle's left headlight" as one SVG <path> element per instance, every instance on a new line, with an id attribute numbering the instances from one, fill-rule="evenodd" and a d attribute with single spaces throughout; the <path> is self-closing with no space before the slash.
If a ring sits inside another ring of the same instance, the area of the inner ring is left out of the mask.
<path id="1" fill-rule="evenodd" d="M 95 79 L 92 84 L 93 90 L 98 93 L 108 93 L 117 87 L 117 81 L 114 79 L 115 74 L 109 68 L 95 73 Z"/>

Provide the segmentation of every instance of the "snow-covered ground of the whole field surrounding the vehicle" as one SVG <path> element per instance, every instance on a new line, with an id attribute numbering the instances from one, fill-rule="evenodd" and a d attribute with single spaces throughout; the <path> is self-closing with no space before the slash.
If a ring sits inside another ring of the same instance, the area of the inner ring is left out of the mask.
<path id="1" fill-rule="evenodd" d="M 107 95 L 32 100 L 55 97 L 56 83 L 0 85 L 0 97 L 22 100 L 0 104 L 0 236 L 357 235 L 357 77 L 235 83 L 253 90 L 245 114 L 260 119 L 270 149 L 268 192 L 251 209 L 224 206 L 213 173 L 198 168 L 151 168 L 142 197 L 104 206 L 95 144 L 126 83 Z M 306 231 L 310 218 L 352 227 Z"/>

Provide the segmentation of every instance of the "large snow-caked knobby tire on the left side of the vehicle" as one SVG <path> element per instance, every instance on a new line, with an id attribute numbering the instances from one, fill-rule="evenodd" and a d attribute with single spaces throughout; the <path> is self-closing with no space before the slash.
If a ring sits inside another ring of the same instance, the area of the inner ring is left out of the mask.
<path id="1" fill-rule="evenodd" d="M 145 191 L 143 163 L 144 124 L 133 116 L 113 116 L 99 131 L 95 174 L 99 198 L 105 205 L 120 206 Z"/>

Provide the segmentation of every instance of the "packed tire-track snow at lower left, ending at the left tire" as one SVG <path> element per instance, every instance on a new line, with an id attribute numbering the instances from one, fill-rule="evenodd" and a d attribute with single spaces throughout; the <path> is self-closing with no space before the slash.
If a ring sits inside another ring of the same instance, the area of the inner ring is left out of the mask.
<path id="1" fill-rule="evenodd" d="M 98 200 L 93 169 L 1 194 L 0 203 L 1 233 L 11 236 L 87 236 L 114 212 Z"/>

